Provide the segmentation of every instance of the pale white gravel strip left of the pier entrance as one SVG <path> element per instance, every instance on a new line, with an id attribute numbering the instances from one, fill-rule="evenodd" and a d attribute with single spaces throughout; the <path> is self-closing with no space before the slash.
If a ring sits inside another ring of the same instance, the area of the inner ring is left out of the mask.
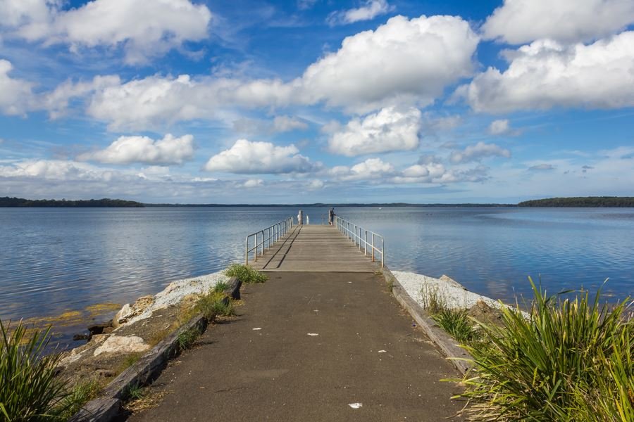
<path id="1" fill-rule="evenodd" d="M 154 295 L 154 303 L 152 303 L 151 306 L 145 309 L 142 314 L 130 319 L 126 324 L 134 324 L 137 321 L 149 318 L 152 316 L 152 312 L 171 305 L 177 305 L 187 295 L 204 293 L 213 286 L 216 286 L 216 283 L 219 281 L 228 280 L 229 277 L 225 276 L 223 271 L 218 271 L 204 276 L 192 277 L 191 279 L 173 281 L 161 292 Z"/>

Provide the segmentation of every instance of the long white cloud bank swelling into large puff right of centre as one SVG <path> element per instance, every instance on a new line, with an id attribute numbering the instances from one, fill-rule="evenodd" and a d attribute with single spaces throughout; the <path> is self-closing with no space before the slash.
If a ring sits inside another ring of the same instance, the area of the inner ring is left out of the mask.
<path id="1" fill-rule="evenodd" d="M 453 16 L 397 16 L 375 31 L 344 39 L 341 48 L 317 60 L 301 77 L 232 79 L 154 75 L 98 90 L 87 113 L 111 130 L 156 129 L 187 120 L 213 120 L 222 110 L 314 105 L 369 113 L 409 103 L 426 106 L 447 85 L 473 72 L 478 36 Z M 371 72 L 368 72 L 371 69 Z M 273 127 L 302 129 L 280 117 Z"/>

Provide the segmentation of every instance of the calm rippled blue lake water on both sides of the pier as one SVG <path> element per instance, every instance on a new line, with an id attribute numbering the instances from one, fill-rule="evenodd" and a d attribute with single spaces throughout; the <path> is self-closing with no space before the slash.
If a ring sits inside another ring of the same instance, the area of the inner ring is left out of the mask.
<path id="1" fill-rule="evenodd" d="M 596 290 L 607 278 L 607 295 L 634 292 L 632 208 L 335 211 L 385 235 L 391 269 L 447 274 L 492 298 L 530 295 L 528 276 L 552 293 Z M 325 212 L 304 208 L 312 224 Z M 242 260 L 244 236 L 290 215 L 296 207 L 0 208 L 0 318 L 134 301 Z M 70 325 L 60 338 L 77 331 Z"/>

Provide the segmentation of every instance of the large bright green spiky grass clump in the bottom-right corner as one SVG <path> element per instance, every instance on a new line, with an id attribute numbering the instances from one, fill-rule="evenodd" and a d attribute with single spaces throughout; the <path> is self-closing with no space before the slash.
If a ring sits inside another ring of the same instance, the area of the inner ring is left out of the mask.
<path id="1" fill-rule="evenodd" d="M 480 324 L 487 345 L 466 346 L 474 369 L 462 382 L 473 421 L 634 421 L 628 303 L 600 293 L 548 297 L 530 284 L 530 319 L 502 307 L 502 326 Z"/>

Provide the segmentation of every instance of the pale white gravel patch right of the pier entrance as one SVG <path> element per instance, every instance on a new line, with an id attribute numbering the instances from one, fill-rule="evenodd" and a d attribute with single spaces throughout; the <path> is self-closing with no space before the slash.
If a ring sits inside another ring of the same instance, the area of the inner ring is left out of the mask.
<path id="1" fill-rule="evenodd" d="M 483 300 L 490 307 L 498 309 L 502 306 L 506 306 L 497 300 L 466 290 L 460 283 L 447 276 L 434 279 L 433 277 L 405 271 L 392 271 L 392 274 L 394 274 L 411 298 L 416 300 L 418 305 L 421 305 L 423 308 L 425 308 L 426 302 L 424 295 L 427 292 L 437 292 L 437 295 L 445 303 L 445 306 L 450 309 L 468 309 L 475 305 L 478 300 Z"/>

